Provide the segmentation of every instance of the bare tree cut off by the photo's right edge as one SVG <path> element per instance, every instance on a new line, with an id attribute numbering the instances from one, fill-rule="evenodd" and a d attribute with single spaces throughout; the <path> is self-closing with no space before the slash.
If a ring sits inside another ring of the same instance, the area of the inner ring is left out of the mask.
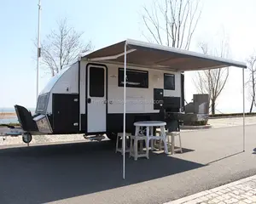
<path id="1" fill-rule="evenodd" d="M 247 59 L 247 68 L 248 68 L 248 71 L 249 71 L 249 79 L 246 83 L 246 85 L 249 89 L 248 99 L 251 102 L 250 113 L 253 111 L 253 105 L 256 106 L 256 101 L 255 101 L 256 67 L 255 67 L 255 63 L 256 63 L 256 56 L 251 55 Z"/>

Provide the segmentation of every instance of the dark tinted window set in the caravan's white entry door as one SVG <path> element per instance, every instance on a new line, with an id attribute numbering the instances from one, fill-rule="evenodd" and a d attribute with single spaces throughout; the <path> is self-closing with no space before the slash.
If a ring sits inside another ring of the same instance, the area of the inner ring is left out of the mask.
<path id="1" fill-rule="evenodd" d="M 105 70 L 100 67 L 90 67 L 90 97 L 104 97 Z"/>

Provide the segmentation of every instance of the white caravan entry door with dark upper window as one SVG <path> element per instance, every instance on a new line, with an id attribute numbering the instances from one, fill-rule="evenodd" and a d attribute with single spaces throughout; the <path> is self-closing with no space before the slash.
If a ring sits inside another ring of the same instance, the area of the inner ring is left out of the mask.
<path id="1" fill-rule="evenodd" d="M 88 66 L 87 133 L 106 132 L 106 71 L 104 66 Z"/>

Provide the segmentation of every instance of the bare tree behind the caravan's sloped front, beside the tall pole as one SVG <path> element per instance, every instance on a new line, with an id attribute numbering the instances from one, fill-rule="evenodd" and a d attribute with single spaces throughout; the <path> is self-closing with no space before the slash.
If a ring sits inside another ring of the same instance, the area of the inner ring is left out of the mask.
<path id="1" fill-rule="evenodd" d="M 52 30 L 41 45 L 42 62 L 52 77 L 67 66 L 72 65 L 80 53 L 90 50 L 91 42 L 81 41 L 83 32 L 68 26 L 67 19 L 57 22 L 57 29 Z"/>

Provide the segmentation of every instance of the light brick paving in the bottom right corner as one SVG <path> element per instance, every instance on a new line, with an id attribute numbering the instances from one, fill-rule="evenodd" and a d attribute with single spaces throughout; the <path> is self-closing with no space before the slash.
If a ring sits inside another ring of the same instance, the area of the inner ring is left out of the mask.
<path id="1" fill-rule="evenodd" d="M 205 190 L 165 204 L 255 204 L 256 176 L 244 178 L 212 190 Z"/>

